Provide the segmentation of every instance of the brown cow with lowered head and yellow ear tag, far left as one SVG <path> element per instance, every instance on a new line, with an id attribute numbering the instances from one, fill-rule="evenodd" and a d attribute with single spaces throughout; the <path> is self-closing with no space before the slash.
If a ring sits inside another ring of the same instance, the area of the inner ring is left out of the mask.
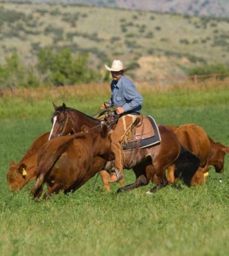
<path id="1" fill-rule="evenodd" d="M 49 132 L 42 134 L 33 142 L 17 164 L 11 161 L 10 169 L 7 172 L 7 182 L 12 191 L 24 188 L 30 180 L 36 178 L 38 152 L 43 144 L 48 141 L 48 137 Z"/>

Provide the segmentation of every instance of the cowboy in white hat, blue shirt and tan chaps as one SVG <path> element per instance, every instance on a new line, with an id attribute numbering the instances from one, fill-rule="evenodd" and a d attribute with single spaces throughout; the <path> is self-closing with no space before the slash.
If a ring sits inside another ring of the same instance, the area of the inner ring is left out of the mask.
<path id="1" fill-rule="evenodd" d="M 135 84 L 124 76 L 124 72 L 129 67 L 123 67 L 122 61 L 114 60 L 112 67 L 105 65 L 105 68 L 110 71 L 112 75 L 112 82 L 110 88 L 112 95 L 108 102 L 101 105 L 101 109 L 115 106 L 116 113 L 121 115 L 114 131 L 111 134 L 112 151 L 115 154 L 114 172 L 110 179 L 110 183 L 117 182 L 122 179 L 124 156 L 122 151 L 122 141 L 126 134 L 130 131 L 133 123 L 140 115 L 142 109 L 143 98 L 138 93 Z"/>

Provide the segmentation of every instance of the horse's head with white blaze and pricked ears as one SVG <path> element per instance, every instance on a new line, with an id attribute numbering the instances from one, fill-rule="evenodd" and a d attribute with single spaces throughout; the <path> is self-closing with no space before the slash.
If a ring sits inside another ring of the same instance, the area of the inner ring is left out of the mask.
<path id="1" fill-rule="evenodd" d="M 54 106 L 55 112 L 51 119 L 52 130 L 48 140 L 66 134 L 73 134 L 75 132 L 73 128 L 73 122 L 70 118 L 70 114 L 68 108 L 66 108 L 66 105 L 63 103 L 62 106 L 57 107 L 54 102 L 52 102 L 52 104 Z"/>

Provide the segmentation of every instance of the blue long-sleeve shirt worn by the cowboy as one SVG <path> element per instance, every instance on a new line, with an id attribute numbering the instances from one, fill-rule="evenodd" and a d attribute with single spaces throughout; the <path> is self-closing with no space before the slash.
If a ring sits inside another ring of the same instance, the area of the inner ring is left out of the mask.
<path id="1" fill-rule="evenodd" d="M 108 103 L 115 107 L 122 107 L 125 112 L 140 113 L 143 98 L 131 80 L 125 76 L 121 76 L 119 81 L 112 80 L 110 89 L 112 95 Z"/>

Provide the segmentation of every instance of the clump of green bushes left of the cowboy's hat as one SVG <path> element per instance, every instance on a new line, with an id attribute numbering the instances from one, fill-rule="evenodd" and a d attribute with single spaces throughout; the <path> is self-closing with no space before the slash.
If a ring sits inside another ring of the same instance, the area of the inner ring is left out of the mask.
<path id="1" fill-rule="evenodd" d="M 24 61 L 25 62 L 25 61 Z M 0 89 L 62 86 L 101 81 L 101 74 L 88 67 L 88 54 L 73 56 L 70 49 L 41 49 L 37 58 L 23 63 L 18 54 L 0 65 Z"/>

